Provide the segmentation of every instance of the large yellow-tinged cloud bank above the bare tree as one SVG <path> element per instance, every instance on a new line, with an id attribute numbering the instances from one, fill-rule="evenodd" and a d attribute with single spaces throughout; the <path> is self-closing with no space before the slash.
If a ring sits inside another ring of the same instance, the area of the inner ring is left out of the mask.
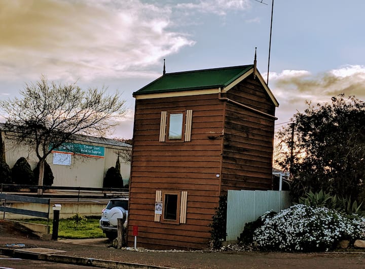
<path id="1" fill-rule="evenodd" d="M 162 57 L 194 44 L 169 29 L 170 16 L 138 0 L 2 1 L 0 79 L 148 75 Z"/>

